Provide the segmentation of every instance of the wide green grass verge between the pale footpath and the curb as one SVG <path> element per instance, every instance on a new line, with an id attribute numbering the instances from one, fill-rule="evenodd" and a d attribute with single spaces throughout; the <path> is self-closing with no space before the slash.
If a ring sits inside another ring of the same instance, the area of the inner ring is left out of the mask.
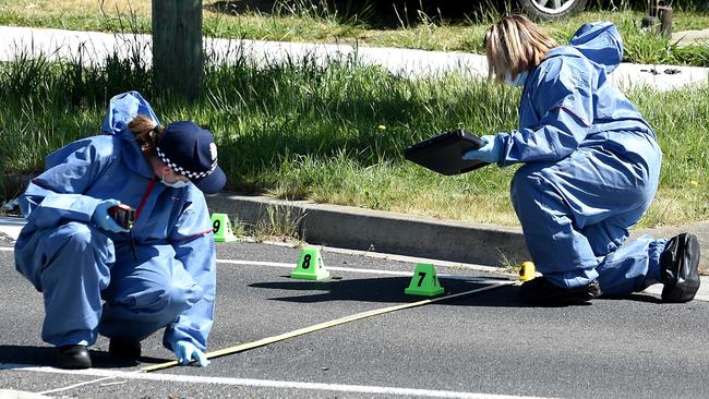
<path id="1" fill-rule="evenodd" d="M 151 71 L 131 61 L 2 63 L 0 169 L 37 173 L 50 150 L 99 132 L 110 96 L 137 89 L 164 123 L 190 119 L 215 133 L 231 191 L 516 225 L 508 198 L 514 167 L 442 177 L 406 162 L 401 152 L 458 126 L 478 134 L 514 129 L 517 89 L 460 74 L 407 80 L 352 60 L 256 68 L 238 59 L 206 69 L 204 95 L 188 105 L 157 95 Z M 660 192 L 642 223 L 707 219 L 709 89 L 629 96 L 665 153 Z M 12 197 L 0 180 L 0 200 Z"/>

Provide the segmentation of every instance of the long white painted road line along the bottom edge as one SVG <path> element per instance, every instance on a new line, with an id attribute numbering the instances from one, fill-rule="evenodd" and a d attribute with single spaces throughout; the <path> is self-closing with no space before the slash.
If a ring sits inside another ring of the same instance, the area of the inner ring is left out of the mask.
<path id="1" fill-rule="evenodd" d="M 230 385 L 230 386 L 257 387 L 257 388 L 325 390 L 325 391 L 339 391 L 339 392 L 350 392 L 350 394 L 396 395 L 396 396 L 408 396 L 408 397 L 418 396 L 418 397 L 425 397 L 425 398 L 465 398 L 465 399 L 537 398 L 537 399 L 541 399 L 539 397 L 477 394 L 477 392 L 462 392 L 462 391 L 454 391 L 454 390 L 417 389 L 417 388 L 382 387 L 382 386 L 347 385 L 347 384 L 303 383 L 303 382 L 253 379 L 253 378 L 202 377 L 202 376 L 176 375 L 176 374 L 145 374 L 145 373 L 119 372 L 112 370 L 98 370 L 98 368 L 73 371 L 73 370 L 61 370 L 61 368 L 52 368 L 46 366 L 32 366 L 27 364 L 12 364 L 12 363 L 0 363 L 0 370 L 49 373 L 49 374 L 71 374 L 71 375 L 93 376 L 93 377 L 112 377 L 112 378 L 123 378 L 123 379 L 156 380 L 156 382 L 169 382 L 169 383 L 214 384 L 214 385 Z"/>

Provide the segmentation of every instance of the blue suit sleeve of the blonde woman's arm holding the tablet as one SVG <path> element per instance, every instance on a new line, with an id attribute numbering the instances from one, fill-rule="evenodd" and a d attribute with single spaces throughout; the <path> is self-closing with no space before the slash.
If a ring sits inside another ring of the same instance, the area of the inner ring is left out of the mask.
<path id="1" fill-rule="evenodd" d="M 501 167 L 558 160 L 586 138 L 593 121 L 593 95 L 590 66 L 579 65 L 584 62 L 588 61 L 553 58 L 539 66 L 527 82 L 529 93 L 522 94 L 520 129 L 497 135 L 503 143 Z"/>

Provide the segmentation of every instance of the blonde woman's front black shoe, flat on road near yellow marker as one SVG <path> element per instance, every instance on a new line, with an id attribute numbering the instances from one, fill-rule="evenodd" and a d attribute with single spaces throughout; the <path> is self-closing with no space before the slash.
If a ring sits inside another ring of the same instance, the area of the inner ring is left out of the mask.
<path id="1" fill-rule="evenodd" d="M 563 288 L 537 277 L 521 285 L 521 299 L 536 305 L 573 305 L 588 302 L 602 294 L 597 280 L 578 288 Z"/>

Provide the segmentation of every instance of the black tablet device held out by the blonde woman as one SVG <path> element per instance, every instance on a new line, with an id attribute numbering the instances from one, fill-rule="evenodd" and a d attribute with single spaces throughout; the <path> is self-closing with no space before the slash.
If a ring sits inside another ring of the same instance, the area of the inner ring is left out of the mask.
<path id="1" fill-rule="evenodd" d="M 481 168 L 488 162 L 462 159 L 468 149 L 485 145 L 477 135 L 462 129 L 444 132 L 404 150 L 404 157 L 441 174 L 459 174 Z"/>

